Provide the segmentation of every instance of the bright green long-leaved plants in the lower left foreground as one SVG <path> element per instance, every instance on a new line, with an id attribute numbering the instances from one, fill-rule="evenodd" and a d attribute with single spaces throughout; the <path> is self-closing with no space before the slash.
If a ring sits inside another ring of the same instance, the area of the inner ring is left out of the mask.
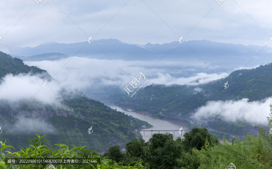
<path id="1" fill-rule="evenodd" d="M 21 151 L 11 153 L 10 151 L 5 151 L 7 148 L 13 148 L 12 146 L 5 145 L 5 142 L 0 141 L 1 151 L 0 151 L 0 167 L 3 169 L 40 169 L 45 166 L 42 164 L 28 164 L 28 165 L 18 165 L 18 164 L 5 164 L 5 158 L 86 158 L 84 154 L 89 154 L 87 158 L 98 158 L 96 164 L 56 164 L 55 168 L 60 169 L 117 169 L 117 168 L 141 168 L 147 169 L 147 167 L 142 165 L 142 162 L 131 162 L 129 165 L 134 166 L 122 166 L 122 163 L 116 163 L 111 159 L 107 159 L 106 157 L 102 158 L 101 154 L 98 155 L 96 151 L 92 151 L 84 149 L 83 147 L 76 147 L 69 149 L 67 145 L 64 144 L 55 144 L 59 148 L 49 149 L 43 142 L 48 142 L 48 140 L 44 139 L 44 136 L 39 136 L 36 134 L 38 138 L 32 139 L 29 142 L 34 141 L 33 145 L 29 145 L 28 148 L 21 148 Z M 85 153 L 84 153 L 85 152 Z"/>

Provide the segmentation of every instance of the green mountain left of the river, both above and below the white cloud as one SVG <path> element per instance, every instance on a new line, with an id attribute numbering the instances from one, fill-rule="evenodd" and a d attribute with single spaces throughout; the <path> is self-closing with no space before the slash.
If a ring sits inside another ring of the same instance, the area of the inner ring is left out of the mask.
<path id="1" fill-rule="evenodd" d="M 1 76 L 7 73 L 35 73 L 46 72 L 35 66 L 24 65 L 21 59 L 0 53 Z M 1 81 L 0 81 L 1 83 Z M 67 93 L 71 93 L 68 94 Z M 125 143 L 136 138 L 134 129 L 140 129 L 142 125 L 149 126 L 147 122 L 130 118 L 122 112 L 108 108 L 103 103 L 90 100 L 79 91 L 65 91 L 59 95 L 63 101 L 61 105 L 43 105 L 37 100 L 25 100 L 19 106 L 7 104 L 6 100 L 0 100 L 0 126 L 3 132 L 0 140 L 5 141 L 18 150 L 25 147 L 27 142 L 35 136 L 20 126 L 20 119 L 25 121 L 43 120 L 46 124 L 53 126 L 53 131 L 37 131 L 39 135 L 47 134 L 51 148 L 53 144 L 63 143 L 66 145 L 87 145 L 87 148 L 97 151 L 105 151 L 110 145 L 120 145 L 124 148 Z M 27 104 L 25 104 L 27 103 Z M 39 105 L 39 107 L 33 105 Z M 131 123 L 131 121 L 133 123 Z M 19 126 L 18 126 L 19 125 Z M 16 128 L 17 126 L 17 128 Z M 18 128 L 19 127 L 19 128 Z M 21 127 L 21 128 L 20 128 Z M 88 129 L 92 127 L 92 133 Z M 12 130 L 12 129 L 18 130 Z M 51 127 L 52 128 L 52 127 Z M 12 150 L 11 150 L 12 151 Z"/>

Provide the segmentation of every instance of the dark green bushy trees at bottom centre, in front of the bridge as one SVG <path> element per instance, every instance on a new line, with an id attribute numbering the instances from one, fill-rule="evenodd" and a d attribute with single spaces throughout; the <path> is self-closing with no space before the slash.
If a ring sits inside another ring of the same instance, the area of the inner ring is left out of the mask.
<path id="1" fill-rule="evenodd" d="M 133 139 L 125 146 L 126 153 L 121 152 L 119 145 L 114 145 L 103 154 L 123 165 L 133 161 L 144 162 L 143 165 L 156 169 L 197 168 L 199 158 L 194 151 L 201 150 L 204 145 L 214 146 L 218 139 L 209 134 L 206 128 L 194 128 L 184 134 L 185 139 L 173 139 L 170 133 L 156 133 L 144 142 L 142 139 Z"/>

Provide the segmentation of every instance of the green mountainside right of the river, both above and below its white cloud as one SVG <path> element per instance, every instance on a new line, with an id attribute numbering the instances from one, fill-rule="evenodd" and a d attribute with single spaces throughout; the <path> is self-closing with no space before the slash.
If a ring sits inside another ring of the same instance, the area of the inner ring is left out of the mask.
<path id="1" fill-rule="evenodd" d="M 124 98 L 118 100 L 121 107 L 149 111 L 152 116 L 172 118 L 188 122 L 195 110 L 207 104 L 210 100 L 261 100 L 272 96 L 272 64 L 261 65 L 255 69 L 242 69 L 232 72 L 228 77 L 199 85 L 157 85 L 152 84 L 142 88 L 133 97 L 124 92 Z M 224 84 L 228 81 L 228 88 Z M 126 101 L 128 103 L 126 103 Z M 160 114 L 162 113 L 162 115 Z M 164 115 L 164 116 L 163 116 Z M 177 118 L 179 117 L 179 118 Z M 184 118 L 181 119 L 180 117 Z M 192 123 L 190 123 L 192 125 Z M 201 124 L 195 124 L 201 126 Z M 227 123 L 214 119 L 209 123 L 210 128 L 221 132 L 244 135 L 252 127 L 245 121 Z"/>

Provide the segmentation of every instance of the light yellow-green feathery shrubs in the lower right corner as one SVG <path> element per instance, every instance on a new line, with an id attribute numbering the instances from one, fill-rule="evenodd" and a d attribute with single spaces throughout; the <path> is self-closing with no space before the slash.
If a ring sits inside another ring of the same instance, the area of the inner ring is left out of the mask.
<path id="1" fill-rule="evenodd" d="M 239 168 L 271 168 L 271 154 L 264 149 L 265 142 L 259 142 L 262 137 L 258 135 L 256 138 L 248 134 L 247 140 L 244 142 L 237 142 L 230 145 L 226 139 L 223 144 L 215 147 L 205 146 L 196 154 L 200 158 L 200 168 L 222 168 L 226 167 L 231 162 L 239 166 Z M 260 146 L 263 145 L 263 146 Z M 258 153 L 260 152 L 260 153 Z"/>

